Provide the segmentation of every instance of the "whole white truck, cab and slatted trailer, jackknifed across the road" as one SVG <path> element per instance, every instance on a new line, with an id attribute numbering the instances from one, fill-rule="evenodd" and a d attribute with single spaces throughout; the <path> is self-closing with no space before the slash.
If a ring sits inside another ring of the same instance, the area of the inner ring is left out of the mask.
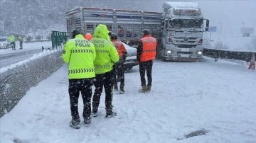
<path id="1" fill-rule="evenodd" d="M 164 2 L 164 12 L 127 11 L 108 8 L 75 8 L 66 13 L 67 33 L 75 29 L 93 33 L 100 23 L 117 33 L 119 40 L 136 47 L 142 30 L 158 40 L 157 56 L 164 61 L 201 61 L 203 15 L 197 3 Z M 206 30 L 209 21 L 206 21 Z"/>

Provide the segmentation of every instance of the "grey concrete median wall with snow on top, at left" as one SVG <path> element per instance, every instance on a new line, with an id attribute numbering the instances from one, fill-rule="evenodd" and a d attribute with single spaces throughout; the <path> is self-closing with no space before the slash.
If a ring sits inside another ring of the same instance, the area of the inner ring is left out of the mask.
<path id="1" fill-rule="evenodd" d="M 0 117 L 9 113 L 31 87 L 63 66 L 62 52 L 49 52 L 48 55 L 16 66 L 14 69 L 1 71 Z"/>

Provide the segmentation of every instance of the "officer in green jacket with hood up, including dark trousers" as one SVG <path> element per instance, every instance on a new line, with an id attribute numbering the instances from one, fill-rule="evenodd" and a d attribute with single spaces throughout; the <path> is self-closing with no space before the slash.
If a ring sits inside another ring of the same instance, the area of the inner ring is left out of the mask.
<path id="1" fill-rule="evenodd" d="M 95 45 L 96 50 L 96 59 L 94 62 L 95 65 L 95 74 L 96 81 L 95 93 L 92 98 L 92 116 L 97 116 L 97 110 L 100 104 L 100 96 L 102 93 L 103 86 L 105 88 L 105 110 L 106 118 L 111 118 L 117 113 L 112 111 L 112 86 L 114 79 L 114 70 L 113 66 L 119 61 L 119 56 L 116 48 L 110 41 L 110 36 L 108 35 L 109 30 L 107 26 L 100 24 L 95 28 L 93 33 L 93 38 L 90 40 L 93 45 Z"/>

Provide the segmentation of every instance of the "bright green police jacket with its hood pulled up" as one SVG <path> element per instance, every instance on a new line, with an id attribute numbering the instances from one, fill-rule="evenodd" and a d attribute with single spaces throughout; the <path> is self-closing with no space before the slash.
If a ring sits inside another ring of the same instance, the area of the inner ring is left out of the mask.
<path id="1" fill-rule="evenodd" d="M 96 59 L 95 74 L 103 74 L 113 69 L 113 65 L 119 61 L 117 49 L 110 41 L 106 25 L 97 25 L 92 40 L 95 45 Z"/>

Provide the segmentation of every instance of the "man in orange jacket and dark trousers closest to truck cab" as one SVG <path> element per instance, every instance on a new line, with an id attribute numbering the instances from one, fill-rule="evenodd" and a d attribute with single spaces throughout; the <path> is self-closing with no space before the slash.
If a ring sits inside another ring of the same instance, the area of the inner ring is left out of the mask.
<path id="1" fill-rule="evenodd" d="M 139 62 L 139 74 L 142 82 L 142 89 L 139 92 L 151 91 L 153 60 L 156 58 L 156 38 L 149 34 L 149 29 L 142 31 L 143 38 L 140 39 L 137 47 L 137 62 Z M 148 84 L 146 86 L 145 73 Z"/>

